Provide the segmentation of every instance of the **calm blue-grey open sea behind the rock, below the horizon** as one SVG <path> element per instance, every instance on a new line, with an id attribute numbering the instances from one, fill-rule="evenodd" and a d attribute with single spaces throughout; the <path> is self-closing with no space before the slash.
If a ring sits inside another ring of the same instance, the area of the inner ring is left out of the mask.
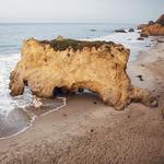
<path id="1" fill-rule="evenodd" d="M 62 35 L 77 39 L 95 38 L 106 36 L 116 28 L 131 26 L 133 24 L 0 24 L 0 55 L 19 52 L 22 40 L 30 37 L 54 39 L 58 35 Z"/>

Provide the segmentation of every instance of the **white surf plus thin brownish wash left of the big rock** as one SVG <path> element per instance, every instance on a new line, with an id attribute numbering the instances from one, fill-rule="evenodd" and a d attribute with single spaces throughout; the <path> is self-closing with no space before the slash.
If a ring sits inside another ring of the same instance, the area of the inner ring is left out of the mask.
<path id="1" fill-rule="evenodd" d="M 10 72 L 20 59 L 20 54 L 4 55 L 3 57 L 0 57 L 0 140 L 24 132 L 33 126 L 33 121 L 37 117 L 33 112 L 26 110 L 26 107 L 30 107 L 33 104 L 33 95 L 30 89 L 25 87 L 23 95 L 16 97 L 10 96 Z M 66 106 L 66 98 L 59 99 L 61 99 L 60 106 L 54 107 L 40 116 Z M 54 105 L 57 105 L 56 102 Z M 20 113 L 19 109 L 21 109 L 22 113 Z"/>

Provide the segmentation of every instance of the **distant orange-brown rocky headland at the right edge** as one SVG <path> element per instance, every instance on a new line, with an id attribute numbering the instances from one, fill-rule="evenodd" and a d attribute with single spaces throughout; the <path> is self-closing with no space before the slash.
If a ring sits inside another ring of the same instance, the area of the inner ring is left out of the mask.
<path id="1" fill-rule="evenodd" d="M 164 36 L 164 14 L 156 22 L 151 21 L 151 23 L 142 24 L 138 28 L 141 30 L 142 37 L 148 37 L 149 35 Z"/>

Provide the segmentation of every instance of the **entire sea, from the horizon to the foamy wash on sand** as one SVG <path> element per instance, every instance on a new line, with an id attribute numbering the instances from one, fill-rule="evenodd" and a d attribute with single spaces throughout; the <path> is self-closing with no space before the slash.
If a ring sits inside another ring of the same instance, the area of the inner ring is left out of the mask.
<path id="1" fill-rule="evenodd" d="M 34 117 L 33 96 L 28 89 L 24 95 L 11 97 L 9 91 L 9 77 L 20 60 L 20 49 L 23 39 L 35 37 L 37 39 L 54 39 L 58 35 L 66 38 L 87 40 L 113 40 L 130 48 L 130 60 L 150 45 L 150 39 L 138 40 L 139 33 L 114 33 L 115 30 L 136 27 L 134 24 L 0 24 L 0 138 L 15 134 L 31 126 Z M 66 104 L 65 99 L 43 99 L 45 115 Z"/>

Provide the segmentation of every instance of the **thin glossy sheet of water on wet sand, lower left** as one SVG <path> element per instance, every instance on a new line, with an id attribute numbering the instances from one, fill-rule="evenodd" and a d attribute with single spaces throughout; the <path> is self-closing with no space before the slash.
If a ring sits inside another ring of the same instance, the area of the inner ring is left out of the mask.
<path id="1" fill-rule="evenodd" d="M 7 115 L 0 114 L 0 139 L 17 134 L 31 127 L 35 117 L 44 116 L 66 106 L 66 98 L 40 101 L 43 105 L 39 108 L 35 108 L 32 104 L 25 109 L 15 108 Z"/>

